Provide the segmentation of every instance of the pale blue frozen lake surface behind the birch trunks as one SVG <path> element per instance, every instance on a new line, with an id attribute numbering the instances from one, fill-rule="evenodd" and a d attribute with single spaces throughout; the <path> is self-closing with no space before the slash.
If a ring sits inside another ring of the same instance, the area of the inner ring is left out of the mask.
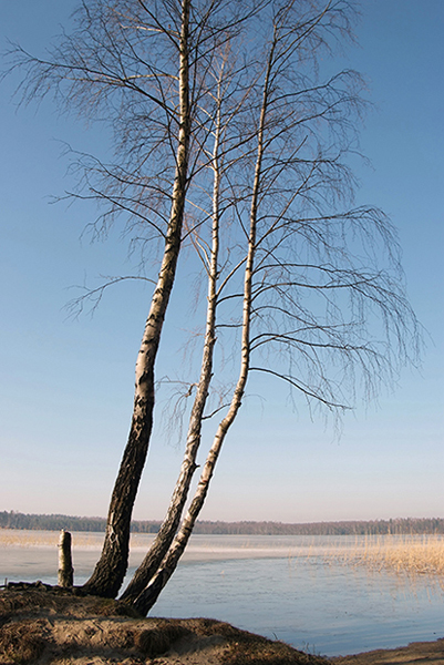
<path id="1" fill-rule="evenodd" d="M 56 583 L 58 538 L 0 531 L 1 583 Z M 73 533 L 75 584 L 91 574 L 102 539 Z M 152 540 L 134 534 L 130 574 Z M 329 559 L 332 549 L 355 543 L 355 536 L 196 535 L 152 614 L 218 618 L 329 656 L 444 637 L 443 580 Z"/>

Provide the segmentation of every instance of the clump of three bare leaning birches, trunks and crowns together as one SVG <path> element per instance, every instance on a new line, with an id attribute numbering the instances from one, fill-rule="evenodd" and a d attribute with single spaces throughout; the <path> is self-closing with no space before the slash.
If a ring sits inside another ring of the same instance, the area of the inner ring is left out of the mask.
<path id="1" fill-rule="evenodd" d="M 90 592 L 115 596 L 126 572 L 184 244 L 207 285 L 202 364 L 185 378 L 189 423 L 171 505 L 122 596 L 143 613 L 184 552 L 251 372 L 340 416 L 419 358 L 395 231 L 378 207 L 353 203 L 363 81 L 326 66 L 353 39 L 355 19 L 347 0 L 93 0 L 48 60 L 12 53 L 24 101 L 53 92 L 62 108 L 111 126 L 114 163 L 80 155 L 72 196 L 102 204 L 99 235 L 123 217 L 143 275 L 156 257 L 132 428 Z M 206 420 L 213 441 L 190 499 Z"/>

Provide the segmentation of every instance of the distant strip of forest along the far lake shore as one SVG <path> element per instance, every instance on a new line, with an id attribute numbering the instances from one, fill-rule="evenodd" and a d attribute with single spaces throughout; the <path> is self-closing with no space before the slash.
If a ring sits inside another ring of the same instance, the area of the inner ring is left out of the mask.
<path id="1" fill-rule="evenodd" d="M 104 531 L 103 518 L 73 518 L 69 515 L 28 515 L 0 512 L 0 529 L 30 529 L 41 531 Z M 133 533 L 157 533 L 161 522 L 134 521 Z M 313 522 L 285 524 L 282 522 L 197 522 L 194 533 L 239 535 L 383 535 L 383 534 L 444 534 L 442 518 L 397 518 L 394 520 Z"/>

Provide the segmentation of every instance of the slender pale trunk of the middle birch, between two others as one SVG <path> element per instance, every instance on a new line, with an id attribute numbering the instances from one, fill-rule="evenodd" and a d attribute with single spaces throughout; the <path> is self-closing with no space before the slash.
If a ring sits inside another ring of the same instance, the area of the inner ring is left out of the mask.
<path id="1" fill-rule="evenodd" d="M 180 473 L 177 479 L 173 497 L 168 507 L 167 514 L 162 523 L 156 539 L 154 540 L 144 561 L 135 572 L 132 581 L 122 595 L 123 601 L 132 603 L 149 583 L 152 577 L 158 570 L 165 554 L 167 553 L 173 539 L 177 532 L 180 522 L 182 513 L 186 499 L 188 497 L 189 485 L 196 466 L 196 456 L 200 446 L 202 437 L 202 420 L 205 406 L 208 397 L 208 389 L 213 376 L 213 355 L 216 342 L 215 323 L 217 307 L 217 268 L 218 268 L 218 249 L 219 249 L 219 186 L 220 186 L 220 167 L 218 160 L 220 137 L 220 104 L 216 119 L 215 145 L 213 151 L 211 166 L 214 171 L 214 188 L 213 188 L 213 229 L 211 229 L 211 256 L 210 265 L 208 266 L 208 306 L 207 321 L 205 331 L 204 352 L 200 366 L 200 378 L 196 390 L 196 396 L 193 403 L 193 409 L 189 419 L 188 434 L 184 461 L 182 463 Z"/>

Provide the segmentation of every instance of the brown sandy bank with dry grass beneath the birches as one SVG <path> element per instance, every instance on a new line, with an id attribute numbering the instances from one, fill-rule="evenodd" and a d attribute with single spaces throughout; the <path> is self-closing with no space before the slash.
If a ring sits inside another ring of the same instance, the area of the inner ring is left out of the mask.
<path id="1" fill-rule="evenodd" d="M 0 665 L 444 665 L 444 640 L 331 658 L 208 618 L 142 618 L 44 585 L 0 591 Z"/>

